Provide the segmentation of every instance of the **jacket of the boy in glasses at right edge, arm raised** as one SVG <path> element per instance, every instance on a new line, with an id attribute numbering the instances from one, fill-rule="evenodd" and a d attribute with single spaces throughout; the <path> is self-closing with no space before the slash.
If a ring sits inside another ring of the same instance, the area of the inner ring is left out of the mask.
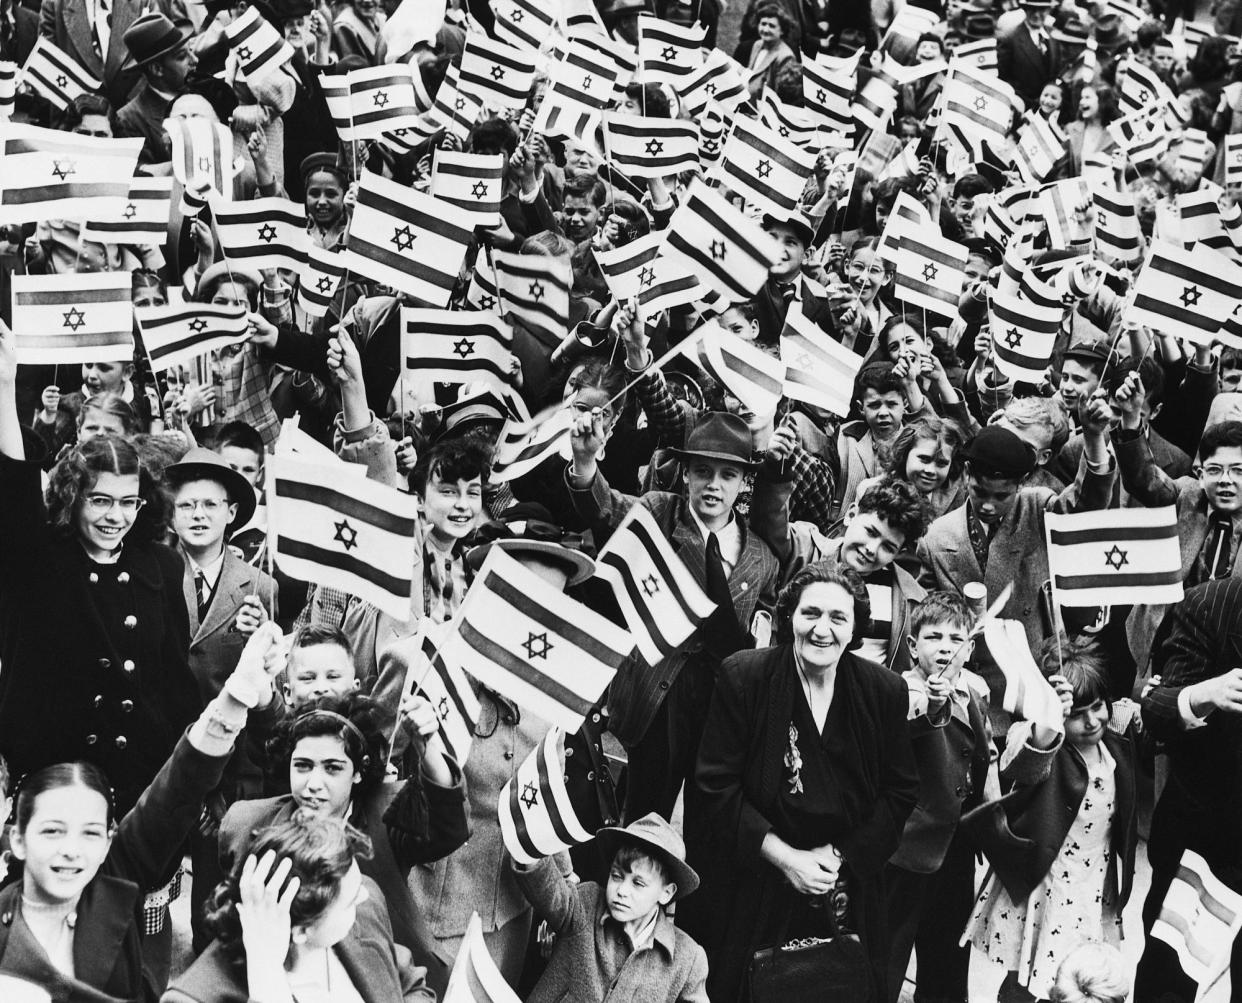
<path id="1" fill-rule="evenodd" d="M 1199 478 L 1191 474 L 1176 479 L 1169 477 L 1153 456 L 1148 437 L 1125 431 L 1114 436 L 1117 462 L 1122 468 L 1122 483 L 1136 502 L 1144 505 L 1175 505 L 1177 509 L 1177 546 L 1181 551 L 1181 580 L 1192 582 L 1190 572 L 1207 542 L 1207 495 Z M 1242 561 L 1235 560 L 1230 572 L 1233 580 L 1242 578 Z M 1156 628 L 1169 611 L 1167 605 L 1135 606 L 1125 624 L 1130 641 L 1130 653 L 1139 665 L 1146 668 L 1154 654 L 1153 642 Z"/>

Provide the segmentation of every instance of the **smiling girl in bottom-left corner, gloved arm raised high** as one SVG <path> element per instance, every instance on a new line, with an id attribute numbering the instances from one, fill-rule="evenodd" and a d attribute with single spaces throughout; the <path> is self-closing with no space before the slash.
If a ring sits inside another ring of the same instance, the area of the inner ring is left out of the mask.
<path id="1" fill-rule="evenodd" d="M 180 855 L 247 706 L 271 700 L 278 637 L 273 627 L 256 631 L 224 690 L 119 824 L 108 781 L 91 763 L 58 763 L 24 780 L 11 835 L 21 876 L 0 891 L 0 974 L 63 1003 L 158 998 L 143 966 L 142 889 Z"/>

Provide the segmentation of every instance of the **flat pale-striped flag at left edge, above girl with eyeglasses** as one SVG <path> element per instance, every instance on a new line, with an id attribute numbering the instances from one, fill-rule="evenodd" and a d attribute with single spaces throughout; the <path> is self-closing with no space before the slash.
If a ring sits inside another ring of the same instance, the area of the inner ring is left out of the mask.
<path id="1" fill-rule="evenodd" d="M 12 276 L 21 365 L 128 362 L 134 355 L 129 272 Z"/>

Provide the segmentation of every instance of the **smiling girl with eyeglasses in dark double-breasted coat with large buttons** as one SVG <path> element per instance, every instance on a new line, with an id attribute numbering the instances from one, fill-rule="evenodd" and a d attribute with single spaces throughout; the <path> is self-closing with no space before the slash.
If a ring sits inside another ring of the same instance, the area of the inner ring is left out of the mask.
<path id="1" fill-rule="evenodd" d="M 0 753 L 16 776 L 91 762 L 125 812 L 202 706 L 168 502 L 112 434 L 58 462 L 45 499 L 14 343 L 0 325 Z"/>

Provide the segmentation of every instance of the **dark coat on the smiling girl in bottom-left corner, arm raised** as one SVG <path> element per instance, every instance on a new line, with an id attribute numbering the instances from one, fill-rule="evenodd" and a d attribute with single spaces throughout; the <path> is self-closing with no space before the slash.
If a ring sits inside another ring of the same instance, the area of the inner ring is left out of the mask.
<path id="1" fill-rule="evenodd" d="M 150 787 L 120 819 L 99 873 L 78 904 L 73 936 L 75 978 L 55 969 L 24 924 L 16 922 L 21 881 L 0 891 L 0 972 L 53 991 L 67 1003 L 143 1001 L 156 991 L 143 977 L 143 889 L 158 888 L 199 821 L 227 756 L 207 756 L 181 737 Z"/>

